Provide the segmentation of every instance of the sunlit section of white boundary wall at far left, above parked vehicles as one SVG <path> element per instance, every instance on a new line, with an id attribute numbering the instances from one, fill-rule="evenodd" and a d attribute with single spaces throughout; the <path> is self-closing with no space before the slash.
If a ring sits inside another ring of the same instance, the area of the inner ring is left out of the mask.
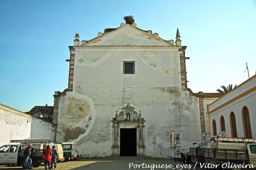
<path id="1" fill-rule="evenodd" d="M 0 108 L 0 146 L 14 139 L 25 139 L 30 137 L 30 119 Z"/>

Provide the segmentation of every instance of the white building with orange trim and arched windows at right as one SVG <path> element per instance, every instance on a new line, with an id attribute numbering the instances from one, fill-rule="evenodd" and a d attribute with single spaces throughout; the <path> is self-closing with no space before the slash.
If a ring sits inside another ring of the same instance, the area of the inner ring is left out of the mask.
<path id="1" fill-rule="evenodd" d="M 256 75 L 208 106 L 211 136 L 256 138 Z"/>

